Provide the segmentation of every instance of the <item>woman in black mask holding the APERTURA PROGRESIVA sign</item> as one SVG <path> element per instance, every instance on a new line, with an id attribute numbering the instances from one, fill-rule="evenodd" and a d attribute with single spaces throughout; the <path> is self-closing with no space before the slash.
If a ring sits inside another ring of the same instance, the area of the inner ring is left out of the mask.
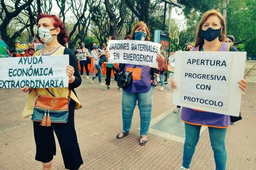
<path id="1" fill-rule="evenodd" d="M 196 45 L 191 51 L 219 51 L 236 52 L 234 46 L 225 43 L 225 21 L 220 12 L 209 10 L 202 16 L 196 36 Z M 223 56 L 225 57 L 225 56 Z M 237 88 L 242 91 L 246 89 L 247 81 L 238 82 Z M 177 85 L 172 79 L 172 89 Z M 210 95 L 210 94 L 209 94 Z M 183 151 L 182 166 L 180 170 L 190 169 L 191 160 L 199 140 L 200 129 L 203 126 L 208 127 L 212 150 L 214 151 L 214 160 L 217 170 L 224 170 L 227 161 L 227 152 L 225 150 L 225 134 L 230 123 L 230 116 L 196 110 L 182 107 L 181 120 L 185 122 L 185 143 Z"/>

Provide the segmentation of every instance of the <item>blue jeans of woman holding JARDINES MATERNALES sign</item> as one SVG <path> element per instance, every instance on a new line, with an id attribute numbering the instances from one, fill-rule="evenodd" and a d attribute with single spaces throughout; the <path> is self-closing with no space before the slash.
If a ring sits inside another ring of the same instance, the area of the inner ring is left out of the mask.
<path id="1" fill-rule="evenodd" d="M 141 136 L 148 135 L 149 124 L 151 121 L 151 112 L 153 104 L 154 87 L 147 93 L 127 93 L 123 91 L 122 97 L 122 118 L 123 131 L 129 132 L 132 124 L 133 111 L 138 100 L 139 115 L 141 116 Z"/>

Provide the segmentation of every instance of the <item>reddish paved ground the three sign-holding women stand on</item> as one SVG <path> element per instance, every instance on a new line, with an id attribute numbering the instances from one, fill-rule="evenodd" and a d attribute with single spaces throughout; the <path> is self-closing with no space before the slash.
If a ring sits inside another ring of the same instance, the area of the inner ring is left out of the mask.
<path id="1" fill-rule="evenodd" d="M 251 68 L 252 62 L 247 62 Z M 149 134 L 146 146 L 139 146 L 139 112 L 136 107 L 131 135 L 117 140 L 121 130 L 121 92 L 111 82 L 111 90 L 83 79 L 76 89 L 83 108 L 76 111 L 75 124 L 84 164 L 80 169 L 177 169 L 181 166 L 183 144 Z M 35 143 L 30 118 L 21 118 L 27 94 L 19 89 L 0 90 L 0 169 L 41 169 L 34 160 Z M 242 97 L 243 119 L 227 131 L 227 169 L 256 169 L 256 83 L 248 85 Z M 172 92 L 154 92 L 152 119 L 172 108 Z M 58 144 L 57 144 L 58 145 Z M 54 169 L 64 169 L 59 146 Z M 215 169 L 209 132 L 204 130 L 193 156 L 191 169 Z"/>

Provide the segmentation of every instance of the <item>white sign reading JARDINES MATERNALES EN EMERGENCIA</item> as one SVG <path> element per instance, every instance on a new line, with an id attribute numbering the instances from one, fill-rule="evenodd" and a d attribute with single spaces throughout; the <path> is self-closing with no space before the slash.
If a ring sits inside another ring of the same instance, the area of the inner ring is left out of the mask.
<path id="1" fill-rule="evenodd" d="M 160 43 L 136 40 L 109 40 L 108 63 L 146 65 L 158 68 L 156 55 L 160 52 Z"/>

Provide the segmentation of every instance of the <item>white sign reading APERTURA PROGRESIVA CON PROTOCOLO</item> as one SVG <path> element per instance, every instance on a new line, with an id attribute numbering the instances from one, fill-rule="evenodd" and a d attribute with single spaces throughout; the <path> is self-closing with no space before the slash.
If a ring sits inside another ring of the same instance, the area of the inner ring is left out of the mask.
<path id="1" fill-rule="evenodd" d="M 246 52 L 176 52 L 173 104 L 239 116 Z"/>

